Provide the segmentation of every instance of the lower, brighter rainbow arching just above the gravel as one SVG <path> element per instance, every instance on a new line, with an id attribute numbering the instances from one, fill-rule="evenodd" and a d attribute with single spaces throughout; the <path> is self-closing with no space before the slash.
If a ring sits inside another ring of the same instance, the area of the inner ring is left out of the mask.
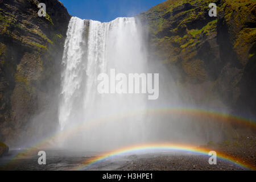
<path id="1" fill-rule="evenodd" d="M 101 162 L 104 162 L 107 159 L 114 158 L 119 155 L 129 155 L 131 152 L 141 152 L 141 151 L 152 151 L 152 150 L 159 150 L 159 151 L 178 151 L 178 152 L 190 152 L 197 155 L 209 155 L 209 148 L 203 148 L 203 147 L 196 147 L 186 144 L 171 144 L 171 143 L 155 143 L 155 144 L 141 144 L 138 146 L 131 146 L 126 148 L 121 148 L 112 152 L 106 152 L 105 154 L 101 154 L 99 156 L 96 156 L 94 158 L 90 158 L 89 160 L 85 160 L 83 162 L 83 166 L 73 168 L 72 170 L 81 171 L 84 170 L 86 167 L 90 167 L 93 164 L 98 164 Z M 236 158 L 227 154 L 224 154 L 222 152 L 216 152 L 217 158 L 224 160 L 226 162 L 230 162 L 235 164 L 236 166 L 240 166 L 245 169 L 251 169 L 256 170 L 256 167 L 253 166 L 253 164 L 248 164 L 243 162 L 240 158 Z"/>

